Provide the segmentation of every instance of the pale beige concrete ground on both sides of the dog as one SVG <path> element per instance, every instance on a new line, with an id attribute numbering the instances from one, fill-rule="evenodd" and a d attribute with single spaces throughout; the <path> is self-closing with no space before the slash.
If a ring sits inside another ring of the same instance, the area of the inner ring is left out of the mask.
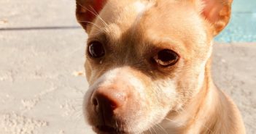
<path id="1" fill-rule="evenodd" d="M 82 117 L 88 88 L 86 35 L 74 1 L 0 1 L 0 134 L 90 134 Z M 214 45 L 213 75 L 247 127 L 256 127 L 256 43 Z"/>

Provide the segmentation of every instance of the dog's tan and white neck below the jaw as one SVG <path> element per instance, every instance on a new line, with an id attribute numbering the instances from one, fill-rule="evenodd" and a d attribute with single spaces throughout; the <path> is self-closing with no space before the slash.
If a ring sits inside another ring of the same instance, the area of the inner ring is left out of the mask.
<path id="1" fill-rule="evenodd" d="M 201 91 L 185 106 L 170 112 L 160 123 L 168 133 L 219 133 L 218 128 L 222 128 L 222 120 L 229 120 L 229 100 L 212 81 L 211 61 L 209 59 L 206 63 Z M 223 131 L 225 132 L 221 132 Z"/>

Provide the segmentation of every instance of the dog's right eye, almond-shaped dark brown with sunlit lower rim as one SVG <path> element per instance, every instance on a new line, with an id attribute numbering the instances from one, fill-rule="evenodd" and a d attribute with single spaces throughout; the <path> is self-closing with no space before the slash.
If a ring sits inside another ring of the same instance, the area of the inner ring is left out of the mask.
<path id="1" fill-rule="evenodd" d="M 156 56 L 153 57 L 153 60 L 161 67 L 169 67 L 178 62 L 179 56 L 174 51 L 171 51 L 169 49 L 163 49 L 159 51 Z"/>

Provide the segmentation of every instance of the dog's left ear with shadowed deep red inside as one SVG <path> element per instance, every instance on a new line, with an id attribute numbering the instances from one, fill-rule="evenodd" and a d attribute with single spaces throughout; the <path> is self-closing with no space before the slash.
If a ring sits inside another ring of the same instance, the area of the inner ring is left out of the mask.
<path id="1" fill-rule="evenodd" d="M 77 21 L 86 32 L 89 31 L 90 25 L 93 23 L 93 20 L 98 17 L 106 1 L 107 0 L 77 0 Z"/>

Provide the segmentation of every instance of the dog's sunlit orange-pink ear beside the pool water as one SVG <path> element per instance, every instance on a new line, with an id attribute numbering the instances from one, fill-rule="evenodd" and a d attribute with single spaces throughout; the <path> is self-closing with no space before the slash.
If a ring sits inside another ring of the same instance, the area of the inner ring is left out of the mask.
<path id="1" fill-rule="evenodd" d="M 213 35 L 217 35 L 228 25 L 233 0 L 193 0 L 201 7 L 201 14 L 213 26 Z"/>

